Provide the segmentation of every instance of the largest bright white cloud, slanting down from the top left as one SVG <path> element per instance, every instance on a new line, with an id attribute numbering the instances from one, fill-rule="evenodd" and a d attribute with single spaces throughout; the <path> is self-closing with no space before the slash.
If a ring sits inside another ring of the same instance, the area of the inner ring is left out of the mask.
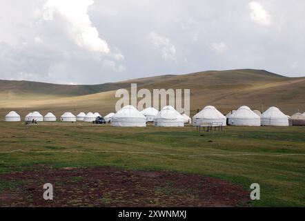
<path id="1" fill-rule="evenodd" d="M 79 47 L 108 54 L 110 48 L 107 42 L 99 37 L 88 15 L 88 8 L 93 3 L 93 0 L 48 0 L 43 6 L 43 19 L 52 21 L 55 14 L 59 13 L 70 23 L 72 37 Z"/>

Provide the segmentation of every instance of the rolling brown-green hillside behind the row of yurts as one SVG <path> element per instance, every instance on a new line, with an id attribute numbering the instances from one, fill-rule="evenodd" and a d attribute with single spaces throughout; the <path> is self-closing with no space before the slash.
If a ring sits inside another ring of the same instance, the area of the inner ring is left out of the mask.
<path id="1" fill-rule="evenodd" d="M 14 109 L 21 115 L 29 111 L 114 111 L 115 90 L 129 88 L 189 88 L 192 113 L 206 105 L 227 113 L 242 105 L 262 109 L 278 106 L 286 114 L 305 111 L 305 77 L 291 78 L 265 70 L 205 71 L 188 75 L 163 75 L 99 85 L 57 85 L 30 81 L 0 81 L 0 117 Z"/>

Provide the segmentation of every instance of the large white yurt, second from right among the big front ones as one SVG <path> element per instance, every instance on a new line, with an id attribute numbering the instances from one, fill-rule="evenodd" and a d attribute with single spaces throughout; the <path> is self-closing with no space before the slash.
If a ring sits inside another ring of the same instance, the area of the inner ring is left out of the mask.
<path id="1" fill-rule="evenodd" d="M 233 126 L 261 126 L 261 117 L 248 106 L 241 106 L 228 117 L 228 124 Z"/>

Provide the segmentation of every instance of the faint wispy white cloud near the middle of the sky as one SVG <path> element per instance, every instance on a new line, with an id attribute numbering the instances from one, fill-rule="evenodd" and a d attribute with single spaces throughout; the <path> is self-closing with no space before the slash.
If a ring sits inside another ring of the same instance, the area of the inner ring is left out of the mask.
<path id="1" fill-rule="evenodd" d="M 148 40 L 156 48 L 161 50 L 162 58 L 165 60 L 176 60 L 176 48 L 170 42 L 170 39 L 157 35 L 155 32 L 150 32 L 148 35 Z"/>

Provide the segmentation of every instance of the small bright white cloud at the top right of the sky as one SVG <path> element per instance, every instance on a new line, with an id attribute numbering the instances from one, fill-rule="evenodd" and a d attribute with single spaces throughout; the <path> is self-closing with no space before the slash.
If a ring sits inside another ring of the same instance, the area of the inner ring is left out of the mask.
<path id="1" fill-rule="evenodd" d="M 257 1 L 252 1 L 249 3 L 250 19 L 251 21 L 263 25 L 269 26 L 271 23 L 271 16 L 267 10 L 263 8 L 263 6 Z"/>

